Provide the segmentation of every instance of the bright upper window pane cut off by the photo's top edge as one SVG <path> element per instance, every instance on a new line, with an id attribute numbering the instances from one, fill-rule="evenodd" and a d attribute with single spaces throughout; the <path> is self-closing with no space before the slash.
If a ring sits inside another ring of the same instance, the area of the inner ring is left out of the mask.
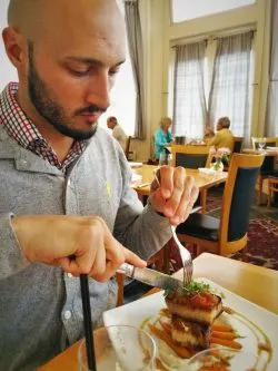
<path id="1" fill-rule="evenodd" d="M 256 0 L 171 0 L 172 22 L 181 22 L 255 3 Z"/>

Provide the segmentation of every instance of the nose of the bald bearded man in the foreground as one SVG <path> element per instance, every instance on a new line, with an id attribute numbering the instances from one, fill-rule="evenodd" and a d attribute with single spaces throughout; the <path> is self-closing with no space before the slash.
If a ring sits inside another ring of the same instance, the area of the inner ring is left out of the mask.
<path id="1" fill-rule="evenodd" d="M 110 90 L 109 76 L 105 74 L 95 76 L 88 87 L 86 100 L 89 105 L 107 110 L 110 106 Z"/>

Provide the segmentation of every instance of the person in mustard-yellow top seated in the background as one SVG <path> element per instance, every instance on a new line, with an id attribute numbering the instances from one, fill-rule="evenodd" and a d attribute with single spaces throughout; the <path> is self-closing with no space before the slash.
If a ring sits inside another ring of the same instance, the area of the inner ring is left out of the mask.
<path id="1" fill-rule="evenodd" d="M 215 134 L 212 129 L 207 129 L 205 134 L 205 141 L 208 146 L 215 146 L 218 148 L 228 148 L 230 153 L 234 149 L 234 135 L 230 127 L 229 117 L 220 117 L 217 121 L 217 133 Z"/>

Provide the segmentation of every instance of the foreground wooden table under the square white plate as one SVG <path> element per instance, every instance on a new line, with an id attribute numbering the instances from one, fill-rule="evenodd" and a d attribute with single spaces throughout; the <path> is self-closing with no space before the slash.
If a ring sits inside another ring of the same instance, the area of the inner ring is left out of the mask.
<path id="1" fill-rule="evenodd" d="M 175 276 L 182 279 L 182 270 Z M 206 277 L 230 292 L 278 315 L 278 271 L 210 253 L 193 260 L 193 279 Z M 146 295 L 158 292 L 150 290 Z M 77 371 L 80 341 L 39 368 L 39 371 Z"/>

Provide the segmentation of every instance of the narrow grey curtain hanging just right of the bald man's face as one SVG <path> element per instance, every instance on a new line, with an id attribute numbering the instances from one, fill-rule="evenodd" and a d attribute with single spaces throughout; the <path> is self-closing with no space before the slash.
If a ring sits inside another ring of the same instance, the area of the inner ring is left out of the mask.
<path id="1" fill-rule="evenodd" d="M 143 53 L 138 0 L 125 1 L 125 19 L 129 53 L 137 90 L 135 137 L 145 139 Z"/>

